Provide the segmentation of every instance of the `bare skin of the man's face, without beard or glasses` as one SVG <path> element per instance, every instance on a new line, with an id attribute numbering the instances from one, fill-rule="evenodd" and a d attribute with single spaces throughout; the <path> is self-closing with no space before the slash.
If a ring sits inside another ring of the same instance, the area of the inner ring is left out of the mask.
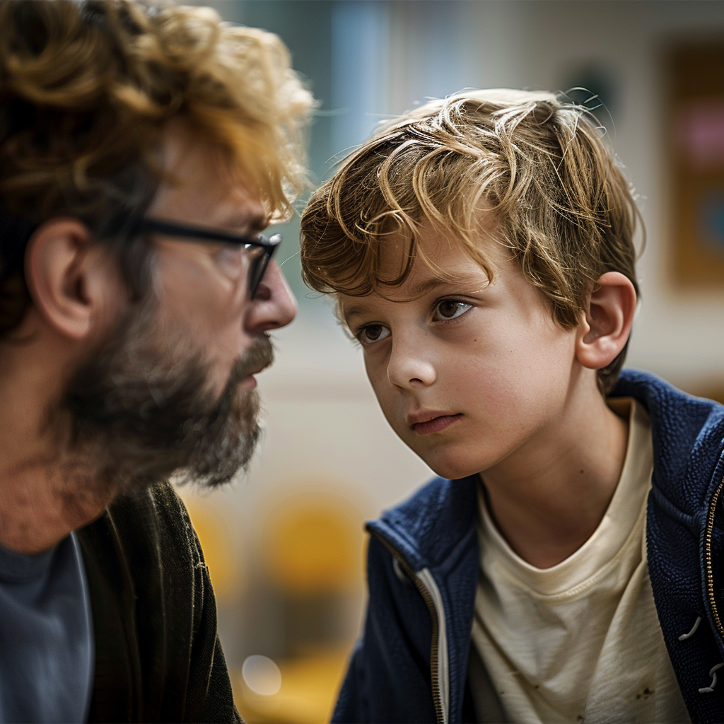
<path id="1" fill-rule="evenodd" d="M 169 135 L 168 164 L 177 179 L 162 187 L 147 216 L 244 235 L 269 219 L 258 195 L 224 167 L 219 152 L 182 130 Z M 203 350 L 210 382 L 220 393 L 232 367 L 269 329 L 294 319 L 296 306 L 279 266 L 271 261 L 256 297 L 249 298 L 249 258 L 242 248 L 156 235 L 159 325 L 183 327 Z M 253 387 L 253 378 L 243 387 Z"/>

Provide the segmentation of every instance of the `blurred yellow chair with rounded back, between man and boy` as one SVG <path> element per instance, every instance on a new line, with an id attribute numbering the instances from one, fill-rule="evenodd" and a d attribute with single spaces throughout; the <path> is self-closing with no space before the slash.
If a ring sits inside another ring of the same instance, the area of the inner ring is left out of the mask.
<path id="1" fill-rule="evenodd" d="M 310 602 L 344 607 L 361 592 L 361 521 L 355 511 L 332 497 L 301 496 L 271 515 L 264 535 L 266 570 L 285 596 L 287 607 L 314 613 Z M 325 620 L 313 631 L 323 631 Z M 245 670 L 235 671 L 232 684 L 242 717 L 251 724 L 320 724 L 328 721 L 345 673 L 351 641 L 307 636 L 303 654 L 266 663 L 271 684 L 261 686 Z M 259 657 L 260 659 L 263 657 Z M 277 673 L 278 672 L 278 673 Z"/>

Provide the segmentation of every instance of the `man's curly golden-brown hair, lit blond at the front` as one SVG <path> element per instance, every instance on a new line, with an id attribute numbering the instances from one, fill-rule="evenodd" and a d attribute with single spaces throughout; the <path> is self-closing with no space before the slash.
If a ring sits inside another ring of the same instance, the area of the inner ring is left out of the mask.
<path id="1" fill-rule="evenodd" d="M 256 185 L 272 220 L 305 185 L 313 104 L 276 35 L 151 0 L 0 0 L 0 336 L 30 305 L 33 229 L 70 214 L 117 249 L 132 294 L 150 251 L 129 219 L 164 180 L 164 128 L 183 119 Z"/>

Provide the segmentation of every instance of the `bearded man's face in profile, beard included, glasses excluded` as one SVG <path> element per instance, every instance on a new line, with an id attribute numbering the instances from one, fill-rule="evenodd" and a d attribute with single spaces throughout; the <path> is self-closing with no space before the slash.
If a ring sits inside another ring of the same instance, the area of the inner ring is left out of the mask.
<path id="1" fill-rule="evenodd" d="M 258 197 L 218 153 L 169 133 L 162 187 L 147 216 L 254 235 L 266 227 Z M 272 361 L 271 329 L 295 301 L 271 261 L 253 299 L 248 253 L 238 246 L 154 235 L 153 289 L 122 314 L 114 338 L 76 371 L 65 395 L 75 452 L 98 461 L 114 489 L 145 487 L 174 471 L 228 481 L 253 454 L 253 374 Z"/>

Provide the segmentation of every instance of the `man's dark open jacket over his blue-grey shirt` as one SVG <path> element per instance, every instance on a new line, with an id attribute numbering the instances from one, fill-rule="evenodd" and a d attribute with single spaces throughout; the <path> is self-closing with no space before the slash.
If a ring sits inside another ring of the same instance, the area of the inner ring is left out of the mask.
<path id="1" fill-rule="evenodd" d="M 77 531 L 93 607 L 90 722 L 240 722 L 201 546 L 167 483 Z"/>

